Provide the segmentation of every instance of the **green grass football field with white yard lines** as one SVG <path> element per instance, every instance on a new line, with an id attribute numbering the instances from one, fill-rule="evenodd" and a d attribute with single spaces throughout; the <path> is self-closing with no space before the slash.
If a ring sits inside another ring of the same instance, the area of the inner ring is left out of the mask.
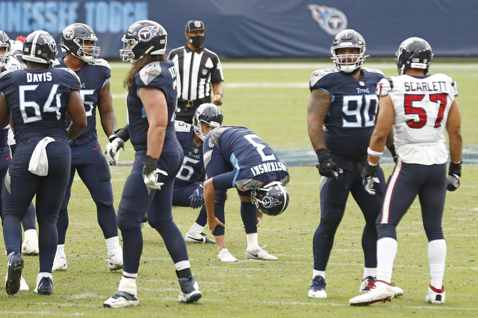
<path id="1" fill-rule="evenodd" d="M 112 92 L 118 125 L 125 124 L 122 79 L 125 65 L 112 64 Z M 226 125 L 245 125 L 276 150 L 310 148 L 306 109 L 312 71 L 332 63 L 224 63 L 225 97 L 222 109 Z M 366 63 L 385 75 L 396 74 L 391 63 Z M 478 64 L 432 64 L 432 73 L 446 73 L 458 82 L 465 145 L 477 146 L 474 120 L 478 117 Z M 98 125 L 100 127 L 100 125 Z M 101 128 L 99 128 L 101 130 Z M 102 145 L 107 138 L 99 131 Z M 130 162 L 133 150 L 128 143 L 121 162 Z M 392 165 L 383 166 L 388 176 Z M 53 273 L 54 292 L 50 297 L 34 294 L 38 258 L 26 256 L 23 276 L 30 291 L 11 297 L 0 292 L 1 317 L 478 317 L 478 165 L 464 165 L 461 188 L 447 194 L 444 232 L 448 257 L 444 285 L 446 303 L 425 303 L 429 283 L 427 240 L 416 201 L 400 223 L 398 253 L 393 282 L 405 294 L 387 304 L 353 308 L 349 299 L 358 295 L 362 278 L 363 254 L 360 237 L 363 217 L 349 199 L 347 211 L 336 235 L 327 268 L 327 300 L 307 297 L 312 278 L 312 238 L 320 220 L 319 174 L 312 167 L 291 167 L 287 186 L 290 205 L 277 217 L 264 216 L 259 227 L 259 243 L 279 257 L 277 261 L 246 260 L 245 234 L 237 193 L 230 191 L 226 203 L 226 240 L 238 263 L 221 263 L 215 245 L 189 244 L 193 273 L 203 298 L 196 304 L 177 302 L 180 289 L 172 263 L 159 234 L 143 229 L 144 248 L 137 280 L 139 306 L 125 309 L 103 308 L 112 296 L 121 272 L 110 272 L 105 262 L 106 245 L 96 220 L 96 207 L 78 179 L 69 206 L 70 226 L 65 252 L 68 270 Z M 115 208 L 130 167 L 113 167 Z M 198 210 L 174 208 L 176 223 L 183 233 L 192 225 Z M 206 232 L 206 231 L 205 231 Z M 209 231 L 207 231 L 208 234 Z M 0 251 L 3 241 L 0 238 Z M 6 258 L 5 258 L 6 260 Z M 0 273 L 6 262 L 0 262 Z"/>

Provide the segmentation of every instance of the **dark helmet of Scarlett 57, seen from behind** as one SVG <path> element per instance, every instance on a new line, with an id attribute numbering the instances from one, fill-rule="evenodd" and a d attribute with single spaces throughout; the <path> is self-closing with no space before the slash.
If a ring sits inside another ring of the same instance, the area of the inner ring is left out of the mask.
<path id="1" fill-rule="evenodd" d="M 395 53 L 398 74 L 403 75 L 403 72 L 408 68 L 421 69 L 427 74 L 430 70 L 432 58 L 432 47 L 427 41 L 419 37 L 409 37 L 400 43 Z"/>

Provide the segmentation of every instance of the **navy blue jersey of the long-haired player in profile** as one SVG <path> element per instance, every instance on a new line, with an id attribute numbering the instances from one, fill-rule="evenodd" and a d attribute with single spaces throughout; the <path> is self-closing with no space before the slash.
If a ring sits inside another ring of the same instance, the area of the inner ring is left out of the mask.
<path id="1" fill-rule="evenodd" d="M 164 93 L 168 105 L 168 125 L 164 144 L 176 140 L 174 131 L 174 113 L 177 106 L 176 71 L 171 61 L 152 62 L 143 67 L 134 76 L 134 85 L 128 90 L 126 105 L 128 107 L 129 139 L 134 150 L 145 150 L 149 129 L 146 111 L 138 96 L 141 87 L 157 89 Z"/>

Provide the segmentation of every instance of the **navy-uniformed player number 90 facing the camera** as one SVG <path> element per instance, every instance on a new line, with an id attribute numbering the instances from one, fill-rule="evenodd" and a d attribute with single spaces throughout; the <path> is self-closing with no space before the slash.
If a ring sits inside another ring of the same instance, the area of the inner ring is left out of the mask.
<path id="1" fill-rule="evenodd" d="M 374 188 L 376 195 L 365 191 L 360 178 L 375 125 L 378 107 L 375 88 L 384 75 L 379 70 L 361 67 L 368 55 L 365 55 L 365 40 L 355 30 L 338 33 L 330 50 L 335 68 L 311 74 L 307 107 L 307 130 L 321 175 L 321 219 L 313 240 L 314 269 L 309 290 L 309 297 L 318 299 L 327 298 L 325 270 L 350 193 L 365 218 L 362 234 L 365 268 L 360 290 L 376 276 L 375 220 L 385 189 L 380 167 Z"/>

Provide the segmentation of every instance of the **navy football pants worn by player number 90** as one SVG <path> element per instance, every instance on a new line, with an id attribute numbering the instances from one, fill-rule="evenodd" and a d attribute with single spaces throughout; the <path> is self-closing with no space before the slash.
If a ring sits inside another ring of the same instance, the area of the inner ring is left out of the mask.
<path id="1" fill-rule="evenodd" d="M 374 268 L 377 266 L 377 230 L 375 221 L 383 200 L 385 192 L 385 177 L 380 167 L 377 167 L 376 177 L 380 181 L 375 183 L 376 195 L 368 194 L 362 186 L 360 172 L 344 170 L 340 173 L 338 180 L 321 177 L 320 210 L 321 218 L 317 227 L 314 240 L 314 269 L 325 271 L 329 261 L 330 252 L 334 245 L 334 237 L 345 213 L 349 193 L 365 218 L 365 227 L 362 233 L 362 249 L 365 258 L 365 267 Z"/>

